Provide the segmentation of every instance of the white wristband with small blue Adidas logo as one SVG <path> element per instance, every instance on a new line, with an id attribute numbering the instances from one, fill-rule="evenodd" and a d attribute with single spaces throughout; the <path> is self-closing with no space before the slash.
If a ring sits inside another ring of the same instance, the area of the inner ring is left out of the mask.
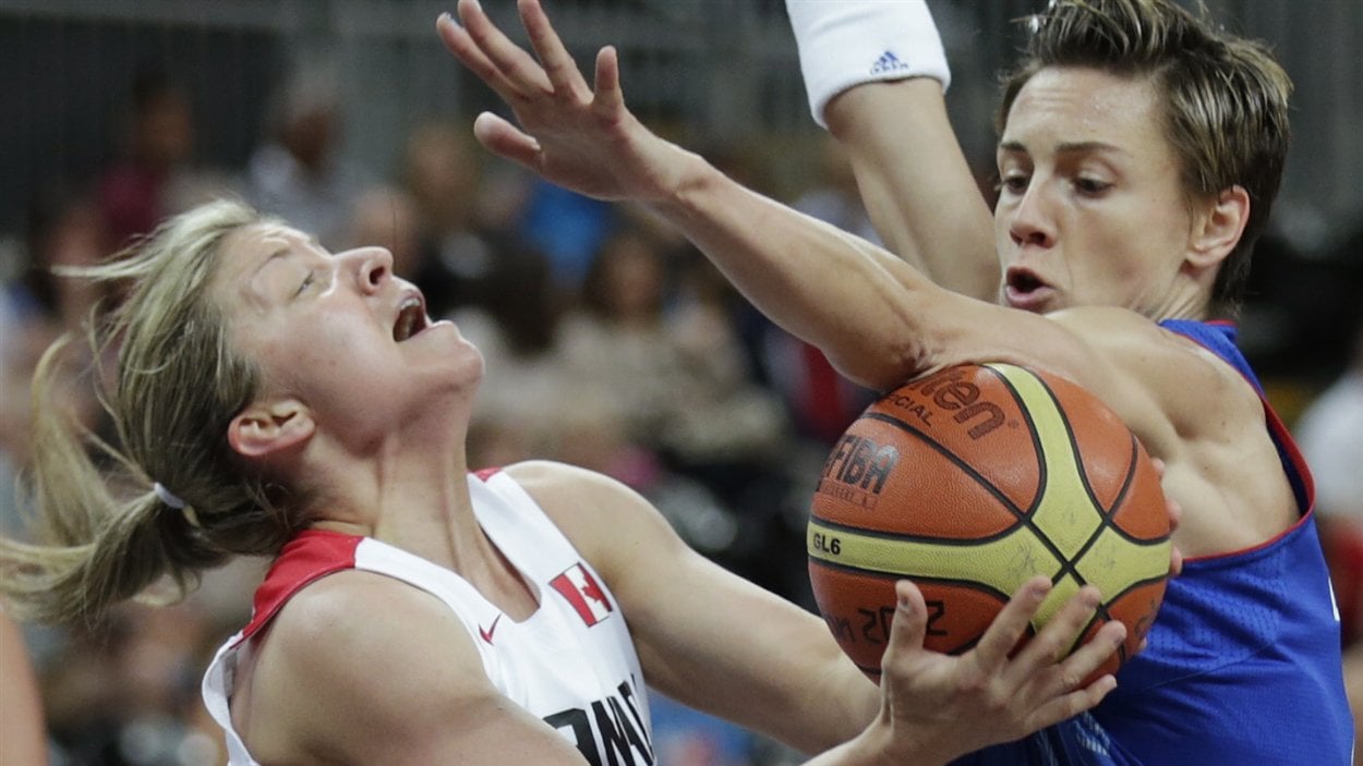
<path id="1" fill-rule="evenodd" d="M 814 121 L 844 90 L 876 80 L 935 78 L 951 71 L 925 0 L 785 0 Z"/>

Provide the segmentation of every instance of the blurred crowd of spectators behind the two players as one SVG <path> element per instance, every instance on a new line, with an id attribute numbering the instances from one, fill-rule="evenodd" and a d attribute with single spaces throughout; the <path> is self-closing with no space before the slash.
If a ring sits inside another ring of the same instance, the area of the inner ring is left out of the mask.
<path id="1" fill-rule="evenodd" d="M 1332 12 L 1363 27 L 1363 14 L 1351 11 L 1348 1 L 1340 0 Z M 293 48 L 326 48 L 322 41 L 333 27 L 350 30 L 352 45 L 364 42 L 364 33 L 354 30 L 379 11 L 431 25 L 444 8 L 298 0 L 278 4 L 285 15 L 301 18 L 279 35 L 249 25 L 224 31 L 222 22 L 209 18 L 207 1 L 183 3 L 183 14 L 165 19 L 139 16 L 132 4 L 120 3 L 109 3 L 95 18 L 82 16 L 87 5 L 0 0 L 0 42 L 15 42 L 0 45 L 7 50 L 0 71 L 19 75 L 0 86 L 14 89 L 0 95 L 19 101 L 11 101 L 18 109 L 7 116 L 18 123 L 5 134 L 14 140 L 0 142 L 11 154 L 3 165 L 12 170 L 0 189 L 0 530 L 25 534 L 15 488 L 29 461 L 34 364 L 59 334 L 80 333 L 117 301 L 53 277 L 50 267 L 105 259 L 166 215 L 230 195 L 315 233 L 333 251 L 387 247 L 395 271 L 424 290 L 429 313 L 453 319 L 483 350 L 487 376 L 470 465 L 536 457 L 615 476 L 652 499 L 703 553 L 811 604 L 804 570 L 808 499 L 830 444 L 874 393 L 842 380 L 816 349 L 766 322 L 667 226 L 638 210 L 542 184 L 487 155 L 469 128 L 484 106 L 481 97 L 453 61 L 429 59 L 439 56 L 431 50 L 438 48 L 432 26 L 423 27 L 429 40 L 421 55 L 398 56 L 391 46 L 386 56 L 373 52 L 383 60 L 379 68 L 409 89 L 408 102 L 421 98 L 417 79 L 453 93 L 423 109 L 403 104 L 401 129 L 386 132 L 378 127 L 386 123 L 375 119 L 386 105 L 394 110 L 394 101 L 357 98 L 356 78 L 348 80 L 348 67 L 353 74 L 363 53 L 352 52 L 356 59 L 341 65 L 290 55 Z M 698 20 L 687 3 L 564 1 L 551 3 L 551 11 L 555 5 L 568 7 L 559 15 L 570 42 L 587 49 L 622 44 L 626 95 L 639 95 L 646 121 L 692 138 L 691 146 L 748 185 L 874 239 L 849 168 L 803 110 L 793 42 L 780 37 L 789 34 L 780 3 L 735 4 L 741 5 L 735 11 L 739 27 L 766 33 L 751 38 L 759 49 L 750 52 L 750 63 L 770 64 L 771 79 L 735 72 L 728 90 L 724 82 L 713 85 L 707 93 L 736 89 L 751 101 L 707 98 L 703 112 L 724 114 L 709 124 L 703 116 L 673 113 L 653 82 L 686 71 L 686 55 L 713 67 L 718 55 L 706 50 L 703 40 L 661 46 L 654 59 L 634 57 L 638 65 L 631 67 L 631 49 L 619 37 L 649 22 L 691 30 L 713 29 L 713 22 Z M 699 0 L 695 5 L 729 12 Z M 1247 12 L 1223 5 L 1242 19 Z M 241 4 L 243 14 L 252 8 L 263 12 L 263 5 Z M 968 45 L 985 25 L 1003 27 L 975 65 L 1007 57 L 1005 22 L 1026 8 L 1000 3 L 972 14 L 962 3 L 934 4 L 945 33 L 957 30 L 949 49 Z M 361 20 L 345 16 L 348 11 Z M 575 19 L 582 19 L 578 26 Z M 1363 29 L 1355 33 L 1355 42 L 1363 40 Z M 101 67 L 101 49 L 127 67 Z M 224 64 L 225 50 L 236 50 L 237 59 Z M 83 64 L 70 64 L 79 57 Z M 1299 89 L 1318 93 L 1306 79 L 1329 70 L 1303 64 L 1293 71 L 1293 59 L 1284 59 Z M 1360 59 L 1336 60 L 1358 68 Z M 50 67 L 56 60 L 67 64 Z M 431 71 L 428 60 L 439 68 Z M 410 72 L 403 61 L 413 63 Z M 233 87 L 214 79 L 224 65 L 236 71 Z M 637 72 L 638 86 L 631 82 Z M 776 80 L 795 95 L 766 93 L 762 85 Z M 1348 82 L 1358 89 L 1363 76 Z M 696 89 L 690 80 L 676 87 Z M 951 97 L 961 104 L 954 108 L 964 110 L 954 119 L 979 123 L 970 109 L 988 97 L 965 85 L 953 87 L 962 91 Z M 991 93 L 988 83 L 984 93 Z M 1352 101 L 1343 109 L 1353 109 L 1353 131 L 1363 132 L 1363 98 L 1356 90 L 1348 94 Z M 53 98 L 59 108 L 44 106 Z M 85 119 L 63 117 L 63 104 Z M 736 104 L 747 113 L 733 116 Z M 1333 124 L 1303 113 L 1308 127 Z M 751 129 L 737 129 L 735 120 Z M 356 124 L 363 125 L 358 149 L 349 140 Z M 962 129 L 981 168 L 981 188 L 988 189 L 992 151 L 984 139 L 981 154 L 972 135 Z M 1303 135 L 1299 124 L 1299 144 L 1321 151 L 1319 140 L 1319 134 Z M 367 153 L 365 144 L 384 151 Z M 1325 149 L 1353 162 L 1344 170 L 1355 181 L 1352 198 L 1313 204 L 1313 187 L 1304 181 L 1284 194 L 1283 213 L 1255 256 L 1254 289 L 1242 318 L 1246 350 L 1265 375 L 1269 398 L 1299 431 L 1318 473 L 1349 643 L 1363 637 L 1363 537 L 1355 532 L 1363 527 L 1360 146 L 1355 139 Z M 1318 179 L 1318 185 L 1334 194 L 1326 180 Z M 61 363 L 71 371 L 64 391 L 71 416 L 114 438 L 98 403 L 101 369 L 112 360 L 71 354 Z M 263 564 L 239 562 L 214 572 L 188 601 L 131 605 L 105 626 L 25 626 L 53 763 L 222 762 L 221 736 L 199 702 L 199 676 L 207 653 L 247 620 L 245 594 Z M 739 766 L 791 756 L 667 701 L 657 706 L 656 744 L 665 763 Z"/>

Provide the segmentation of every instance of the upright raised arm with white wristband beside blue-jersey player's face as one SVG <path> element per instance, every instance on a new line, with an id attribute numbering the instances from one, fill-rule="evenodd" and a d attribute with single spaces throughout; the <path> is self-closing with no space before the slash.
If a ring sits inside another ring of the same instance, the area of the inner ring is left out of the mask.
<path id="1" fill-rule="evenodd" d="M 990 209 L 947 119 L 923 0 L 786 0 L 810 109 L 842 144 L 886 245 L 953 292 L 999 289 Z"/>

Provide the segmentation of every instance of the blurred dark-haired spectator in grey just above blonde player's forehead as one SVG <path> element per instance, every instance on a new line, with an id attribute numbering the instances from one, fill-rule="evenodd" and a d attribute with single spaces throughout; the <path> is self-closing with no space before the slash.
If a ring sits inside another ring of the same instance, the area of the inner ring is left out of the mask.
<path id="1" fill-rule="evenodd" d="M 300 65 L 271 97 L 266 140 L 247 165 L 247 199 L 335 245 L 371 180 L 339 157 L 339 86 L 324 65 Z"/>

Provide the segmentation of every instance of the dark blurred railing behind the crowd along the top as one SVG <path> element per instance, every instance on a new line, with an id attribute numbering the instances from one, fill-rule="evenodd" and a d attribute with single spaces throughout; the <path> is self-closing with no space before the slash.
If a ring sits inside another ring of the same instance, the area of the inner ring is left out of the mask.
<path id="1" fill-rule="evenodd" d="M 519 31 L 514 3 L 485 0 Z M 1011 57 L 1011 20 L 1040 0 L 931 0 L 957 72 L 950 104 L 966 149 L 992 157 L 992 75 Z M 1307 245 L 1363 219 L 1363 3 L 1214 0 L 1239 31 L 1269 40 L 1298 82 L 1298 135 L 1284 225 Z M 1308 5 L 1308 12 L 1307 12 Z M 294 64 L 328 61 L 345 104 L 346 158 L 388 173 L 406 129 L 428 116 L 496 108 L 433 34 L 453 0 L 0 0 L 0 229 L 55 179 L 82 179 L 120 150 L 135 72 L 159 67 L 189 89 L 198 154 L 240 166 L 270 95 Z M 784 146 L 810 121 L 781 0 L 549 0 L 590 65 L 620 49 L 626 93 L 649 124 L 710 146 Z M 807 161 L 780 151 L 797 184 Z M 785 165 L 780 165 L 780 164 Z"/>

